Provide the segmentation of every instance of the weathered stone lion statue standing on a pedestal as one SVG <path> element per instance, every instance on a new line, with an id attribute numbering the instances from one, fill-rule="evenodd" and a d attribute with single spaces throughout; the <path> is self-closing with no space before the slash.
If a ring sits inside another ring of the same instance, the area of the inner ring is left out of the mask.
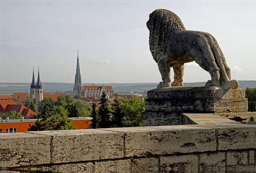
<path id="1" fill-rule="evenodd" d="M 195 61 L 211 75 L 205 86 L 236 89 L 237 80 L 231 80 L 230 68 L 216 41 L 209 33 L 186 31 L 180 18 L 172 11 L 158 9 L 149 14 L 149 48 L 158 64 L 163 82 L 157 88 L 183 86 L 184 63 Z M 170 67 L 174 81 L 171 83 Z"/>

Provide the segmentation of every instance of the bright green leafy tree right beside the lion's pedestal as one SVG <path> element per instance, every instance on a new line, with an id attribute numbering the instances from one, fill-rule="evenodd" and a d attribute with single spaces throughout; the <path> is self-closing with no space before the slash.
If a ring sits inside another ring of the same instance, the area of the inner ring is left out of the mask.
<path id="1" fill-rule="evenodd" d="M 145 98 L 140 101 L 139 98 L 132 97 L 131 100 L 124 98 L 122 100 L 122 112 L 124 113 L 124 127 L 142 126 L 141 112 L 145 111 Z"/>

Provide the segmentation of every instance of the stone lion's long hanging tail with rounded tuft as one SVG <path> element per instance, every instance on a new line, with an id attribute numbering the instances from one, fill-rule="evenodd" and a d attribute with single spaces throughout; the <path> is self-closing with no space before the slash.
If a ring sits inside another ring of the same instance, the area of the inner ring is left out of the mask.
<path id="1" fill-rule="evenodd" d="M 220 69 L 220 76 L 223 78 L 224 82 L 226 83 L 226 88 L 231 88 L 231 89 L 236 89 L 239 86 L 239 82 L 237 80 L 230 80 L 231 75 L 230 75 L 230 68 L 228 67 L 226 63 L 226 59 L 214 37 L 212 35 L 209 35 L 210 39 L 209 41 L 211 42 L 211 49 L 212 53 L 214 55 L 215 61 L 217 63 L 217 66 Z M 221 78 L 220 77 L 220 78 Z"/>

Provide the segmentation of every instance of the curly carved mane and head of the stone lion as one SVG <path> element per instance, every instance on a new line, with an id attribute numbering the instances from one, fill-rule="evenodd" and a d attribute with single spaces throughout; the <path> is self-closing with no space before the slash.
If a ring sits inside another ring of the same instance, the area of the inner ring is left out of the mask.
<path id="1" fill-rule="evenodd" d="M 177 31 L 186 30 L 176 14 L 164 9 L 158 9 L 149 14 L 147 27 L 149 30 L 149 48 L 156 62 L 156 54 L 161 51 L 165 53 L 166 45 L 172 35 Z"/>

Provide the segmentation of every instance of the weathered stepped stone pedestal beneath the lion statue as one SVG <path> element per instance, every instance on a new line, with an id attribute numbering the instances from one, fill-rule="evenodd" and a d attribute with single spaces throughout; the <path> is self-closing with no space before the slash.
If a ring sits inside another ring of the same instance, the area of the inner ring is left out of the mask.
<path id="1" fill-rule="evenodd" d="M 247 112 L 245 90 L 176 86 L 148 91 L 143 126 L 181 125 L 181 113 Z"/>

